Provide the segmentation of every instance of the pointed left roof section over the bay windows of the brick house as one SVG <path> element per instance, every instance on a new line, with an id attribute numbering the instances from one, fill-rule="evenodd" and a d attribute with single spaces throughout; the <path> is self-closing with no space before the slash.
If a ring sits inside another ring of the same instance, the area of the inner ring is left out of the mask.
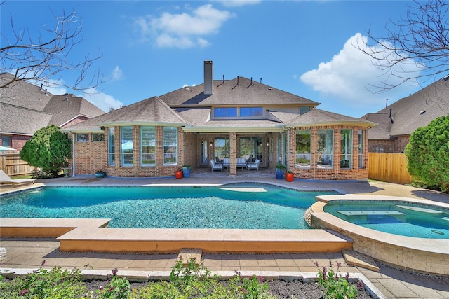
<path id="1" fill-rule="evenodd" d="M 109 113 L 71 125 L 65 132 L 102 132 L 100 127 L 112 125 L 187 125 L 175 111 L 170 109 L 159 97 L 124 106 Z"/>

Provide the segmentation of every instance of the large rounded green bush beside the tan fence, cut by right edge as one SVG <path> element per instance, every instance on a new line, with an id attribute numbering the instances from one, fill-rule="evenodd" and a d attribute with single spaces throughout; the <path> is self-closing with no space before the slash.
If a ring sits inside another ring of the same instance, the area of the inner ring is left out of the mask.
<path id="1" fill-rule="evenodd" d="M 429 186 L 449 191 L 449 115 L 418 128 L 406 146 L 408 172 Z"/>

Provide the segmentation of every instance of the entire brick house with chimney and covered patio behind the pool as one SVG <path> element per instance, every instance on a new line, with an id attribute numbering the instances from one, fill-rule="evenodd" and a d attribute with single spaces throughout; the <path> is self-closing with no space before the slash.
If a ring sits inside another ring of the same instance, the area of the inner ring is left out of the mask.
<path id="1" fill-rule="evenodd" d="M 319 103 L 237 77 L 144 99 L 65 127 L 74 141 L 73 175 L 174 176 L 182 165 L 210 167 L 229 158 L 281 162 L 300 179 L 366 180 L 368 129 L 376 124 L 316 109 Z"/>

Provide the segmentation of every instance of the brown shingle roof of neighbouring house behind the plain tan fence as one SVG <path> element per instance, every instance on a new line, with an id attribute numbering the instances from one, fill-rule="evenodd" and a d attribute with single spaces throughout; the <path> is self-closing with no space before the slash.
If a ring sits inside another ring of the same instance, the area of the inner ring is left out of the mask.
<path id="1" fill-rule="evenodd" d="M 449 81 L 438 80 L 377 113 L 362 116 L 363 120 L 379 123 L 379 126 L 368 131 L 368 138 L 389 139 L 410 135 L 418 127 L 429 125 L 435 118 L 447 116 L 449 113 L 448 83 Z"/>

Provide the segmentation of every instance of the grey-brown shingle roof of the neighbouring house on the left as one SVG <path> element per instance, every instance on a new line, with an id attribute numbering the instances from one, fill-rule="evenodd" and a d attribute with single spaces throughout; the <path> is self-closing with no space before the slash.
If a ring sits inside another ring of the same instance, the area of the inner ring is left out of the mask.
<path id="1" fill-rule="evenodd" d="M 0 81 L 13 75 L 0 74 Z M 47 125 L 62 127 L 75 118 L 93 118 L 105 112 L 82 97 L 52 95 L 39 86 L 16 81 L 0 89 L 0 132 L 32 135 Z"/>

